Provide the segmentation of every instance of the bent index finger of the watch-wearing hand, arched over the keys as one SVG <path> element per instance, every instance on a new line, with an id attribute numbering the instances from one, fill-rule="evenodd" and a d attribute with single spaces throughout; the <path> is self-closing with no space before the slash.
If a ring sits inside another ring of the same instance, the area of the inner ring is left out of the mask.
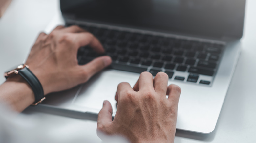
<path id="1" fill-rule="evenodd" d="M 104 53 L 105 50 L 99 40 L 89 32 L 75 33 L 74 42 L 77 43 L 78 47 L 90 46 L 97 53 Z"/>

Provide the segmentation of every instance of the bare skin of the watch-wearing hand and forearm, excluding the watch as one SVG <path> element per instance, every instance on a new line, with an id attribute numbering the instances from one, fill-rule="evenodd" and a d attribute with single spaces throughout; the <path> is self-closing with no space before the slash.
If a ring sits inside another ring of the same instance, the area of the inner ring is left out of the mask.
<path id="1" fill-rule="evenodd" d="M 39 34 L 26 64 L 41 82 L 45 95 L 85 83 L 111 64 L 109 56 L 102 56 L 86 65 L 78 65 L 77 51 L 86 45 L 97 53 L 104 53 L 100 42 L 78 26 L 57 26 L 49 35 Z M 0 102 L 15 111 L 23 111 L 34 100 L 31 87 L 19 75 L 9 77 L 0 86 Z"/>

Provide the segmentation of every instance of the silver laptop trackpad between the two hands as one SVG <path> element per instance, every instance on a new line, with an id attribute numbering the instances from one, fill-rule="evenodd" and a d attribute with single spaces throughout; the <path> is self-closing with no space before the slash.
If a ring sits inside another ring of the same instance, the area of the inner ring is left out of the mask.
<path id="1" fill-rule="evenodd" d="M 116 112 L 115 95 L 118 84 L 128 82 L 133 87 L 138 78 L 138 73 L 117 70 L 103 71 L 81 85 L 73 103 L 99 111 L 103 101 L 108 100 L 112 105 L 113 112 Z"/>

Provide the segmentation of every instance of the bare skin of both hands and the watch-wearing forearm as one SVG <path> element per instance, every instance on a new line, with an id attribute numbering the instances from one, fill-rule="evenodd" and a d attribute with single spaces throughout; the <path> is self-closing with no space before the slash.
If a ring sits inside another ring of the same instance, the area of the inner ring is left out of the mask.
<path id="1" fill-rule="evenodd" d="M 100 42 L 78 26 L 57 26 L 50 34 L 40 33 L 26 60 L 29 69 L 42 84 L 44 94 L 75 87 L 88 81 L 112 62 L 101 56 L 86 65 L 78 65 L 77 51 L 90 46 L 104 53 Z M 98 114 L 97 134 L 121 135 L 131 142 L 173 142 L 176 131 L 180 87 L 168 84 L 168 75 L 159 72 L 155 78 L 141 73 L 132 88 L 120 83 L 115 96 L 117 113 L 112 121 L 112 107 L 104 101 Z M 166 99 L 166 95 L 169 95 Z M 21 112 L 34 102 L 29 84 L 19 75 L 9 77 L 0 85 L 0 103 Z"/>

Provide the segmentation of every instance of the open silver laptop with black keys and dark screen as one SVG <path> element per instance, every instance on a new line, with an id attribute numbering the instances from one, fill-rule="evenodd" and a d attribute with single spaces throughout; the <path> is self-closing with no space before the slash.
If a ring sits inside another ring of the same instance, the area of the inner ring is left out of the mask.
<path id="1" fill-rule="evenodd" d="M 40 106 L 97 114 L 108 100 L 115 116 L 120 82 L 133 86 L 141 72 L 163 71 L 182 90 L 177 129 L 215 129 L 241 51 L 245 0 L 60 0 L 60 9 L 48 31 L 79 25 L 101 41 L 113 63 Z M 81 47 L 78 63 L 97 56 Z"/>

